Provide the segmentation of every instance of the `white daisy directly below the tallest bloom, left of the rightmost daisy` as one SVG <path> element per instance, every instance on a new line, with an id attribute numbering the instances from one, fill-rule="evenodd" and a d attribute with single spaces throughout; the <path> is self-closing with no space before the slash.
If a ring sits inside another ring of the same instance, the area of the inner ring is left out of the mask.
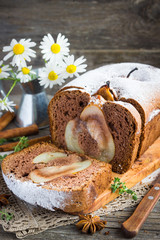
<path id="1" fill-rule="evenodd" d="M 46 67 L 43 69 L 40 69 L 39 71 L 39 80 L 40 85 L 44 88 L 47 88 L 48 86 L 50 88 L 53 87 L 53 85 L 62 85 L 64 83 L 64 78 L 62 73 L 62 68 L 58 66 L 55 62 L 49 62 L 46 64 Z"/>

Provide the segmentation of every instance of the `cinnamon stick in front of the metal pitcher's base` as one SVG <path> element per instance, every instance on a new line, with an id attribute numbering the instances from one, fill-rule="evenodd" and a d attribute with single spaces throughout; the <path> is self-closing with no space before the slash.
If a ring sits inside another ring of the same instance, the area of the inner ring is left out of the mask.
<path id="1" fill-rule="evenodd" d="M 28 127 L 13 128 L 13 129 L 1 131 L 0 139 L 1 138 L 28 136 L 28 135 L 32 135 L 32 134 L 36 134 L 36 133 L 38 133 L 38 126 L 37 126 L 37 124 L 33 124 Z"/>

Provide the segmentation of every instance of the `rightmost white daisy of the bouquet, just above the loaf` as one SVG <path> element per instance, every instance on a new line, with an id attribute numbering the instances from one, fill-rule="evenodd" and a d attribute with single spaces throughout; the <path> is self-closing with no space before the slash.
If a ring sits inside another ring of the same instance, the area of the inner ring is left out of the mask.
<path id="1" fill-rule="evenodd" d="M 82 56 L 77 60 L 74 60 L 74 56 L 68 56 L 64 59 L 63 68 L 65 69 L 64 78 L 72 78 L 73 76 L 78 77 L 79 73 L 86 71 L 87 64 L 82 64 L 86 59 Z"/>

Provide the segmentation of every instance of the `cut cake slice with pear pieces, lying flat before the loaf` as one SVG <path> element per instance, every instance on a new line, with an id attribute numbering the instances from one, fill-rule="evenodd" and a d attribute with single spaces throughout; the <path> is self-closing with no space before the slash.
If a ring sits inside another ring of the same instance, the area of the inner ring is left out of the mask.
<path id="1" fill-rule="evenodd" d="M 69 213 L 92 206 L 112 178 L 109 164 L 45 142 L 8 155 L 2 172 L 8 188 L 20 199 Z"/>

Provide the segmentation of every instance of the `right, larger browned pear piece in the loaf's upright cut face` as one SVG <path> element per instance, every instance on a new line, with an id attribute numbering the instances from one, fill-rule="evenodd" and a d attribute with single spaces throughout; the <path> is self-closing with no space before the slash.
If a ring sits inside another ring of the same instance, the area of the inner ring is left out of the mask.
<path id="1" fill-rule="evenodd" d="M 115 144 L 101 108 L 95 104 L 88 105 L 82 111 L 80 119 L 86 122 L 88 132 L 98 144 L 101 151 L 98 159 L 110 162 L 115 155 Z"/>

